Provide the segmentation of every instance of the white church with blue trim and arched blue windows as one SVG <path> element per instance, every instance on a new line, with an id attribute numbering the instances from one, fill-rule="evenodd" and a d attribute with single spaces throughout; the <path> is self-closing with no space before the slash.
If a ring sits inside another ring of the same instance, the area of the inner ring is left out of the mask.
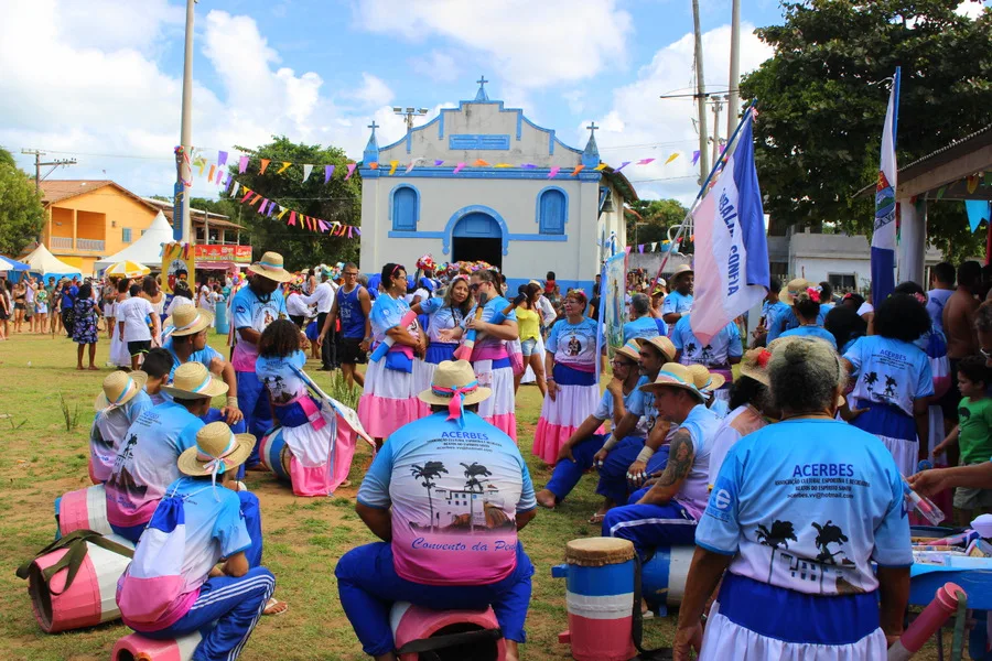
<path id="1" fill-rule="evenodd" d="M 396 262 L 412 272 L 429 252 L 438 262 L 489 262 L 509 292 L 548 271 L 562 291 L 591 291 L 608 257 L 601 243 L 615 237 L 613 245 L 626 245 L 623 209 L 637 199 L 633 186 L 608 166 L 596 170 L 594 123 L 585 149 L 569 147 L 522 110 L 490 100 L 485 83 L 473 100 L 442 109 L 392 144 L 380 148 L 375 122 L 369 127 L 359 165 L 362 271 Z M 488 165 L 474 166 L 479 160 Z M 399 166 L 390 175 L 392 161 Z M 467 165 L 455 173 L 459 163 Z"/>

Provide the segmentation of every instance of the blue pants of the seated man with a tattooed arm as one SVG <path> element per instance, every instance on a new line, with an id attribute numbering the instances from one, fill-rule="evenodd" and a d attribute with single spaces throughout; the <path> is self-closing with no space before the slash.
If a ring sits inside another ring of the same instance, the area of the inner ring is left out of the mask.
<path id="1" fill-rule="evenodd" d="M 678 502 L 625 505 L 603 519 L 603 537 L 630 540 L 641 557 L 656 546 L 696 543 L 696 519 Z"/>

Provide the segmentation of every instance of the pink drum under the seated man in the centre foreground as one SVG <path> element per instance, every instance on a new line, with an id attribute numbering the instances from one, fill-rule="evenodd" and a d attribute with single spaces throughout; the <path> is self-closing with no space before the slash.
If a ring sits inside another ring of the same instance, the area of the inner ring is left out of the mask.
<path id="1" fill-rule="evenodd" d="M 485 610 L 430 610 L 413 606 L 409 602 L 397 602 L 389 611 L 389 625 L 396 649 L 408 642 L 424 640 L 434 636 L 464 633 L 482 629 L 497 629 L 499 622 L 492 608 Z M 452 647 L 435 652 L 442 660 L 485 659 L 505 661 L 506 641 L 503 638 L 486 640 L 473 646 Z M 400 654 L 399 661 L 418 661 L 416 652 Z"/>

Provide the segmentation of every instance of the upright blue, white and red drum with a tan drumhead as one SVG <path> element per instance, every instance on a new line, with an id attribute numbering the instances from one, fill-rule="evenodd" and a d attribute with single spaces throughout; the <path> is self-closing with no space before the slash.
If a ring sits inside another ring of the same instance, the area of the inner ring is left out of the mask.
<path id="1" fill-rule="evenodd" d="M 634 544 L 617 538 L 572 540 L 565 563 L 551 573 L 565 578 L 569 633 L 559 640 L 572 643 L 579 661 L 634 658 Z"/>

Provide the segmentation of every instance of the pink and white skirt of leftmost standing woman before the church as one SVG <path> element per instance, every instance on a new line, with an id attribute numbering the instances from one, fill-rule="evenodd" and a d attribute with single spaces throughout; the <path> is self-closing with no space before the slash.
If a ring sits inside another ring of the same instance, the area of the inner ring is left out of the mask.
<path id="1" fill-rule="evenodd" d="M 430 409 L 417 399 L 422 372 L 423 361 L 419 359 L 413 360 L 410 373 L 388 369 L 385 360 L 369 361 L 358 400 L 358 420 L 370 436 L 386 438 L 405 424 L 428 415 Z"/>

